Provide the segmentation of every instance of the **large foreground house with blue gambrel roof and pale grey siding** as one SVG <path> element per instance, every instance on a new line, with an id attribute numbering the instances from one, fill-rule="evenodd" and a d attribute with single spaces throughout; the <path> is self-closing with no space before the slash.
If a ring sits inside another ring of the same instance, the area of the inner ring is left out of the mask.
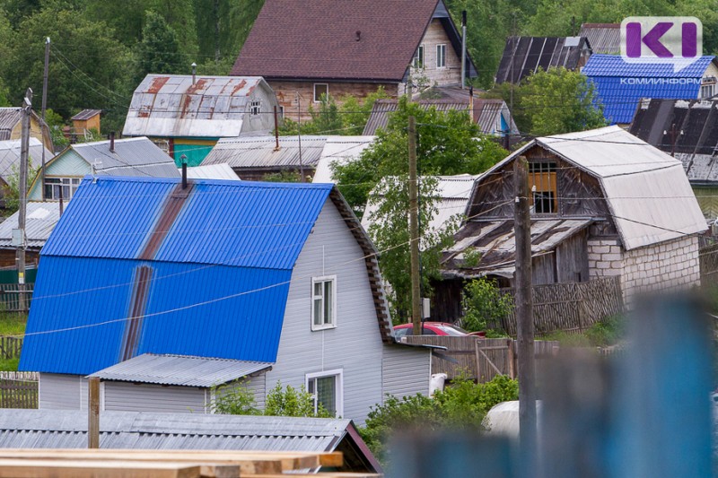
<path id="1" fill-rule="evenodd" d="M 363 422 L 426 393 L 426 349 L 392 339 L 376 251 L 336 187 L 86 177 L 42 249 L 20 369 L 39 408 L 211 413 L 277 381 Z"/>

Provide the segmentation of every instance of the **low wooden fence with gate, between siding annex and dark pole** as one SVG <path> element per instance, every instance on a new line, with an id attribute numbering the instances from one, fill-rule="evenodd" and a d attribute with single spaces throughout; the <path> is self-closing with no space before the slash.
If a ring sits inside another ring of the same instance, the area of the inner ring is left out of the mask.
<path id="1" fill-rule="evenodd" d="M 433 351 L 433 374 L 445 373 L 448 378 L 463 375 L 475 378 L 481 383 L 496 375 L 508 375 L 512 378 L 517 375 L 517 342 L 512 339 L 484 339 L 473 335 L 407 335 L 406 342 L 446 348 Z M 534 345 L 536 357 L 544 357 L 556 352 L 558 342 L 536 341 Z"/>

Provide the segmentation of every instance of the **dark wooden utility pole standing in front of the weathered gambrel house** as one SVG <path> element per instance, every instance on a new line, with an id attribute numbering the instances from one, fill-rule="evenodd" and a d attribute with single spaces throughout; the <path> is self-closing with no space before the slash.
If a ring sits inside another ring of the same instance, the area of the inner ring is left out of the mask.
<path id="1" fill-rule="evenodd" d="M 516 241 L 516 322 L 518 325 L 519 443 L 521 455 L 532 466 L 536 457 L 536 366 L 533 346 L 531 298 L 531 218 L 529 163 L 520 156 L 513 165 Z M 531 468 L 528 468 L 531 469 Z"/>

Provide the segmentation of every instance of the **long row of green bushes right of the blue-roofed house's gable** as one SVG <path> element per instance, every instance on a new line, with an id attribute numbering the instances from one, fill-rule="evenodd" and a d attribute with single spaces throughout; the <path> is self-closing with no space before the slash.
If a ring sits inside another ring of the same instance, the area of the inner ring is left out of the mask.
<path id="1" fill-rule="evenodd" d="M 386 445 L 393 433 L 446 428 L 480 431 L 491 407 L 518 398 L 519 383 L 507 376 L 496 376 L 485 384 L 460 378 L 442 392 L 436 392 L 433 398 L 388 396 L 384 404 L 372 407 L 360 433 L 374 456 L 386 463 L 390 459 Z"/>

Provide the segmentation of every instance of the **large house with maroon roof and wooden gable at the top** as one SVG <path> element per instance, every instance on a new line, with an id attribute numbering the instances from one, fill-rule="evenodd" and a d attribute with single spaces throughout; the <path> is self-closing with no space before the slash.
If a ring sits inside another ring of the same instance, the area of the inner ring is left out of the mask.
<path id="1" fill-rule="evenodd" d="M 397 96 L 419 77 L 460 84 L 460 58 L 460 34 L 443 0 L 270 0 L 231 74 L 263 76 L 285 117 L 307 119 L 323 94 L 361 99 L 382 87 Z M 468 56 L 465 67 L 476 76 Z"/>

